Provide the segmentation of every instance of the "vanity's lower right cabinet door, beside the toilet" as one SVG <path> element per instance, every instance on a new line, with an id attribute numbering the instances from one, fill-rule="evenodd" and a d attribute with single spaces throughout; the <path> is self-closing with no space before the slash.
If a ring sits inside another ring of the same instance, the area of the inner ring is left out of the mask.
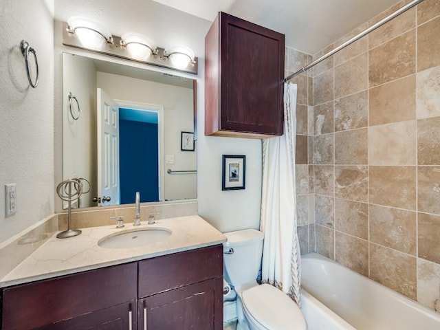
<path id="1" fill-rule="evenodd" d="M 138 330 L 223 329 L 222 278 L 139 300 Z"/>

